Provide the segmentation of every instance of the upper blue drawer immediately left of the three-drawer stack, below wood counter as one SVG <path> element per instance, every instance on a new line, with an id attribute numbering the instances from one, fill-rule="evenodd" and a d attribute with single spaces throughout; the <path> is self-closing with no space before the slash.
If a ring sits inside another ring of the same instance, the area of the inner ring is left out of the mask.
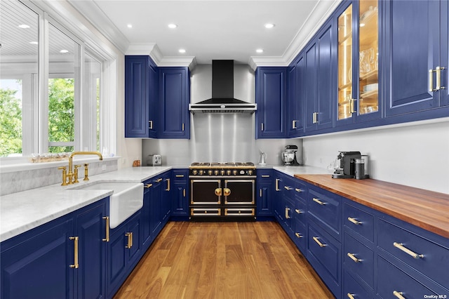
<path id="1" fill-rule="evenodd" d="M 342 198 L 336 194 L 309 187 L 307 199 L 309 215 L 323 224 L 337 239 L 340 239 L 341 202 Z"/>

